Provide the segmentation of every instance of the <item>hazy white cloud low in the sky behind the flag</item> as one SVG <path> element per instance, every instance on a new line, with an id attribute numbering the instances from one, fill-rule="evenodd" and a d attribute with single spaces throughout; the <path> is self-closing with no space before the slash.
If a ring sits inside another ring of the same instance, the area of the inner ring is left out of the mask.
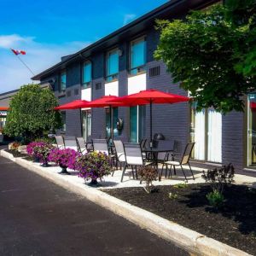
<path id="1" fill-rule="evenodd" d="M 42 44 L 32 37 L 0 35 L 0 93 L 18 89 L 22 84 L 32 83 L 32 73 L 9 48 L 25 50 L 26 55 L 19 55 L 20 59 L 37 74 L 61 61 L 61 56 L 73 54 L 89 44 L 79 41 Z"/>

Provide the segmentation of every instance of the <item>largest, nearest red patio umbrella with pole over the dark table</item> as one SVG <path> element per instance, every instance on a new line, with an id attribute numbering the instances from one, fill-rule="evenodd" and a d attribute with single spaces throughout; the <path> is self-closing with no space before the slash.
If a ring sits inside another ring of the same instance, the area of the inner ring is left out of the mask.
<path id="1" fill-rule="evenodd" d="M 167 93 L 160 90 L 141 90 L 128 96 L 119 97 L 119 99 L 111 102 L 123 102 L 127 105 L 150 105 L 150 147 L 152 147 L 152 103 L 155 104 L 173 104 L 177 102 L 188 102 L 189 97 L 179 96 L 172 93 Z"/>

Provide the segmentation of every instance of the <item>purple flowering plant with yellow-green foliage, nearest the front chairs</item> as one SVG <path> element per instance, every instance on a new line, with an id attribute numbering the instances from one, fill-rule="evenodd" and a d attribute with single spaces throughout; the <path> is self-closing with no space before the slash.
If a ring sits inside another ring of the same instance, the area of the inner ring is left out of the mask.
<path id="1" fill-rule="evenodd" d="M 79 156 L 76 170 L 79 171 L 79 177 L 91 179 L 92 183 L 96 183 L 98 177 L 108 175 L 112 171 L 111 160 L 107 154 L 90 152 Z"/>

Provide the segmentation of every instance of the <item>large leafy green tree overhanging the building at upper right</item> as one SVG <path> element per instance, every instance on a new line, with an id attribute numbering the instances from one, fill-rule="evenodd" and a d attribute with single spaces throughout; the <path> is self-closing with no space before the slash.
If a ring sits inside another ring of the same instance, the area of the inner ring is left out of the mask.
<path id="1" fill-rule="evenodd" d="M 189 90 L 197 110 L 243 111 L 242 96 L 255 89 L 255 8 L 255 0 L 227 0 L 185 20 L 158 20 L 154 56 Z"/>

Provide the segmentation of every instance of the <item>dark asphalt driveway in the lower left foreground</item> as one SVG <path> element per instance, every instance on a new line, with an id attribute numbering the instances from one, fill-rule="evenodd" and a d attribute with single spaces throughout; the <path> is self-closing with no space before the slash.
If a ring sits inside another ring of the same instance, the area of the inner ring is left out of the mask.
<path id="1" fill-rule="evenodd" d="M 0 157 L 0 255 L 188 255 Z"/>

